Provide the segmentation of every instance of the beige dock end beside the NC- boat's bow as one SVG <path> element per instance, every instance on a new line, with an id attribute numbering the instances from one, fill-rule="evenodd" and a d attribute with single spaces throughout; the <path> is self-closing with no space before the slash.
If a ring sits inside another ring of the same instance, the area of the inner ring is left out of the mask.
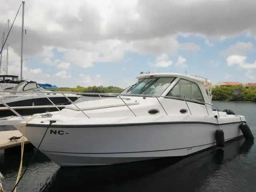
<path id="1" fill-rule="evenodd" d="M 20 146 L 22 137 L 16 140 L 9 140 L 9 138 L 16 136 L 21 137 L 22 133 L 18 130 L 0 131 L 0 150 Z M 24 144 L 30 143 L 28 139 L 24 138 Z"/>

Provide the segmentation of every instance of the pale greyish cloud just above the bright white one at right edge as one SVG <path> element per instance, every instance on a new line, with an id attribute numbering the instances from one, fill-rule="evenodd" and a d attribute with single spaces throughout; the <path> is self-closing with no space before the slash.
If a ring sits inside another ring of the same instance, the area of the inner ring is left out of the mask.
<path id="1" fill-rule="evenodd" d="M 224 56 L 230 55 L 244 55 L 253 50 L 253 44 L 251 42 L 236 42 L 236 44 L 230 45 L 226 50 L 221 53 Z"/>

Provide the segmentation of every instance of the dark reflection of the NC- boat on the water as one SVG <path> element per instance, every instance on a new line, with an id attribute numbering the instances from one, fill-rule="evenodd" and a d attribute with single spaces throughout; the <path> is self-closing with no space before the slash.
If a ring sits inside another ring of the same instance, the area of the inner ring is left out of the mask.
<path id="1" fill-rule="evenodd" d="M 200 190 L 209 175 L 237 156 L 247 154 L 252 145 L 253 142 L 242 139 L 226 144 L 222 149 L 208 150 L 183 159 L 163 158 L 102 167 L 59 168 L 40 191 L 196 191 Z"/>

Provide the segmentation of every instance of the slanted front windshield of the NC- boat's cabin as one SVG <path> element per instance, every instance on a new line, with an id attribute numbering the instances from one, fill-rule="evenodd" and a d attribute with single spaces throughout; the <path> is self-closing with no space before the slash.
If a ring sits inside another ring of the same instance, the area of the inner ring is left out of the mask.
<path id="1" fill-rule="evenodd" d="M 126 88 L 122 94 L 162 95 L 175 77 L 145 78 Z"/>

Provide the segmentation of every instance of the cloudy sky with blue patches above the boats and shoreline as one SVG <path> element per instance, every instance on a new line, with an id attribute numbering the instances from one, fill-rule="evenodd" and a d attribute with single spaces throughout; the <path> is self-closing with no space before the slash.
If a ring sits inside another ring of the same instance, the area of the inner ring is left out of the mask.
<path id="1" fill-rule="evenodd" d="M 0 5 L 6 36 L 21 0 Z M 256 82 L 255 8 L 256 0 L 26 0 L 23 78 L 126 88 L 155 71 Z M 8 36 L 8 74 L 20 75 L 21 26 L 22 8 Z M 6 55 L 5 46 L 2 68 Z"/>

